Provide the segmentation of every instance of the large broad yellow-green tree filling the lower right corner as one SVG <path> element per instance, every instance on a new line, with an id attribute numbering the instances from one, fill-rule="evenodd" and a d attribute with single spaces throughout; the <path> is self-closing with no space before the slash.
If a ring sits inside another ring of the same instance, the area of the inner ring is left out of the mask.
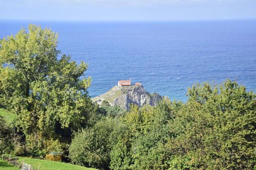
<path id="1" fill-rule="evenodd" d="M 256 164 L 256 95 L 227 79 L 196 84 L 170 128 L 170 169 L 253 169 Z"/>

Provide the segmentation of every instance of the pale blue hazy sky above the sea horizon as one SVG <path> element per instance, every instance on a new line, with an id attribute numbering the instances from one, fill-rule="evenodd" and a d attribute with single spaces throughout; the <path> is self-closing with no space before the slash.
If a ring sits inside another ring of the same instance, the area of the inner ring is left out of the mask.
<path id="1" fill-rule="evenodd" d="M 256 0 L 0 0 L 0 20 L 256 19 Z"/>

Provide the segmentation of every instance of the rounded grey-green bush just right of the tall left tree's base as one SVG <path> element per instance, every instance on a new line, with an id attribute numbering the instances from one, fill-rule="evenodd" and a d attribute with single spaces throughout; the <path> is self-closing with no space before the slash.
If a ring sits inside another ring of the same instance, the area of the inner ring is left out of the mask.
<path id="1" fill-rule="evenodd" d="M 106 117 L 93 128 L 83 129 L 74 134 L 69 157 L 78 165 L 108 169 L 110 151 L 117 143 L 118 137 L 126 136 L 127 130 L 118 120 Z"/>

